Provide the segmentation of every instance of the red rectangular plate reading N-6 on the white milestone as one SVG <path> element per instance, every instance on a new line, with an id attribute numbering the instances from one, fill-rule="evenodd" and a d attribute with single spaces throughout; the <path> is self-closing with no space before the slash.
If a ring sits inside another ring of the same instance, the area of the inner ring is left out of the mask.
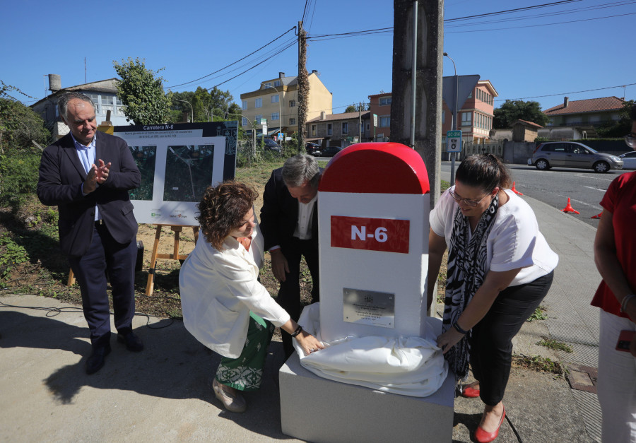
<path id="1" fill-rule="evenodd" d="M 409 220 L 331 215 L 331 247 L 408 254 Z"/>

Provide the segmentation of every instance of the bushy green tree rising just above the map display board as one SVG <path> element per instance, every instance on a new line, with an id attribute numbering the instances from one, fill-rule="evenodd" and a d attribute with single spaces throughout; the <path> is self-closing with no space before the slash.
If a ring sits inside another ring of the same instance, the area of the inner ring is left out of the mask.
<path id="1" fill-rule="evenodd" d="M 112 62 L 117 75 L 122 78 L 117 83 L 117 95 L 124 104 L 127 122 L 135 124 L 161 124 L 170 119 L 172 93 L 163 92 L 163 78 L 155 75 L 158 71 L 146 68 L 143 59 Z"/>

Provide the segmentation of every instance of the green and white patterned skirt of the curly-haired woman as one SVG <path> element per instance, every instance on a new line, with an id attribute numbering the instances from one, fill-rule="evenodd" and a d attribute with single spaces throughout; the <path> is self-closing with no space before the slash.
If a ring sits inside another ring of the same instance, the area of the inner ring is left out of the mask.
<path id="1" fill-rule="evenodd" d="M 218 382 L 239 391 L 259 389 L 273 331 L 274 326 L 271 321 L 261 319 L 254 312 L 249 312 L 247 338 L 241 355 L 239 358 L 221 358 L 216 370 Z"/>

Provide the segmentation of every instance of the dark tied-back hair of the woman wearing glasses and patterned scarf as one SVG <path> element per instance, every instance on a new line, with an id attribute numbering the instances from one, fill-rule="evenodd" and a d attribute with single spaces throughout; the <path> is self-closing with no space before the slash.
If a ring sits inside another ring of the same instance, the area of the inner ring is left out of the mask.
<path id="1" fill-rule="evenodd" d="M 512 179 L 508 168 L 493 154 L 471 155 L 457 168 L 455 179 L 466 186 L 490 192 L 496 187 L 510 188 Z"/>

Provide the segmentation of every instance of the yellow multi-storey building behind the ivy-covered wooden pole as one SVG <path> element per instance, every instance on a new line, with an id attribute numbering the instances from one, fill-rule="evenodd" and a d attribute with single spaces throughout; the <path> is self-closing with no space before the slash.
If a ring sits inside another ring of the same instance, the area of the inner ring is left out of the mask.
<path id="1" fill-rule="evenodd" d="M 318 78 L 318 71 L 307 76 L 309 81 L 309 100 L 307 101 L 307 121 L 319 117 L 320 112 L 331 114 L 331 93 Z M 260 88 L 241 94 L 242 126 L 251 130 L 254 120 L 267 120 L 267 131 L 273 134 L 282 131 L 292 134 L 298 131 L 298 77 L 285 77 L 284 72 L 278 78 L 263 81 Z M 257 125 L 261 129 L 261 125 Z"/>

